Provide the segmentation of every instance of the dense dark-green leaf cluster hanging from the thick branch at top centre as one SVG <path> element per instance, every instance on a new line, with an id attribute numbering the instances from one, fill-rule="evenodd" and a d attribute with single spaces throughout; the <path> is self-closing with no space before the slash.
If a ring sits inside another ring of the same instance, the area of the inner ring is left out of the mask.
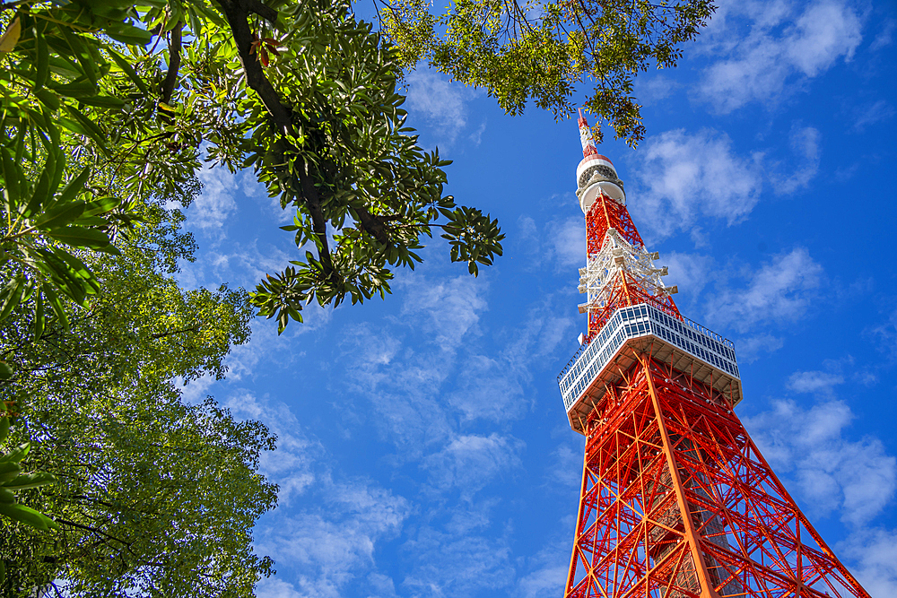
<path id="1" fill-rule="evenodd" d="M 263 73 L 255 55 L 238 54 L 257 92 L 240 112 L 271 115 L 250 119 L 244 165 L 296 210 L 283 229 L 295 233 L 297 247 L 314 251 L 258 285 L 253 303 L 262 315 L 276 316 L 283 331 L 312 300 L 384 297 L 391 268 L 414 268 L 434 227 L 462 247 L 451 258 L 470 273 L 501 255 L 498 222 L 443 195 L 442 168 L 450 162 L 422 151 L 405 126 L 399 56 L 370 24 L 345 4 L 307 0 L 283 7 L 272 27 L 280 39 Z"/>

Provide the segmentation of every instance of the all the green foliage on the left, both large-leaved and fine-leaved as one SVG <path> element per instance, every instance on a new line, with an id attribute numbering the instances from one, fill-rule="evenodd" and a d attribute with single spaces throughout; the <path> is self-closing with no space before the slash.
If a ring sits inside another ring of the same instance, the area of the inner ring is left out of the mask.
<path id="1" fill-rule="evenodd" d="M 497 221 L 443 195 L 399 56 L 348 4 L 17 0 L 0 28 L 4 595 L 248 594 L 273 438 L 170 380 L 222 377 L 253 307 L 283 331 L 385 296 L 434 228 L 475 274 Z M 309 249 L 251 299 L 162 275 L 191 256 L 162 206 L 196 196 L 201 152 L 252 167 Z"/>

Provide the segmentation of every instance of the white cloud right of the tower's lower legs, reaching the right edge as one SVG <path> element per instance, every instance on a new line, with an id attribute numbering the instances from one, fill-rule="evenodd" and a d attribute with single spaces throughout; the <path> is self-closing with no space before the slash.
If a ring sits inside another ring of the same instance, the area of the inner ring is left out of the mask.
<path id="1" fill-rule="evenodd" d="M 853 419 L 840 401 L 805 409 L 791 401 L 745 418 L 762 454 L 813 516 L 840 513 L 841 521 L 866 524 L 882 512 L 897 489 L 897 459 L 878 438 L 845 438 Z"/>

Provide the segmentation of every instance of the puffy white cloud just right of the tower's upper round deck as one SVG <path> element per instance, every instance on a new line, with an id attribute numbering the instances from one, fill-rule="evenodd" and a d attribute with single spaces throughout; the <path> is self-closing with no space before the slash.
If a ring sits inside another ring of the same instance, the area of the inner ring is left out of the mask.
<path id="1" fill-rule="evenodd" d="M 653 135 L 635 156 L 639 201 L 636 220 L 660 237 L 689 230 L 699 218 L 740 221 L 757 204 L 762 188 L 760 154 L 739 157 L 724 133 L 683 129 Z"/>

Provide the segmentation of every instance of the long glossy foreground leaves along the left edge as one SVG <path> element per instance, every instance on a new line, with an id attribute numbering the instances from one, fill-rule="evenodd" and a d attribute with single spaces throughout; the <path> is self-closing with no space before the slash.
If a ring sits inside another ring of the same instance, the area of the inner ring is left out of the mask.
<path id="1" fill-rule="evenodd" d="M 91 168 L 79 165 L 66 152 L 73 135 L 89 137 L 105 151 L 100 130 L 79 107 L 86 103 L 106 108 L 120 103 L 104 96 L 97 86 L 96 52 L 91 53 L 91 45 L 82 43 L 77 32 L 83 29 L 84 18 L 83 10 L 74 4 L 43 11 L 18 10 L 0 39 L 6 62 L 0 70 L 0 130 L 4 132 L 0 141 L 0 261 L 5 282 L 0 289 L 0 322 L 27 304 L 29 335 L 34 338 L 43 334 L 50 321 L 68 329 L 66 304 L 85 308 L 100 289 L 77 250 L 117 254 L 110 235 L 131 221 L 118 197 L 86 188 Z M 110 33 L 133 40 L 129 34 L 134 27 L 113 23 L 107 23 Z M 59 54 L 60 48 L 63 54 Z M 64 135 L 68 139 L 64 140 Z M 66 175 L 69 180 L 64 185 Z M 7 377 L 12 374 L 11 370 Z M 9 413 L 4 410 L 0 427 L 8 426 Z M 26 442 L 2 458 L 21 460 L 28 450 Z M 46 473 L 32 475 L 36 477 L 30 487 L 54 481 Z M 0 513 L 4 516 L 42 530 L 57 527 L 47 516 L 17 504 L 12 492 L 2 499 L 6 506 Z"/>

